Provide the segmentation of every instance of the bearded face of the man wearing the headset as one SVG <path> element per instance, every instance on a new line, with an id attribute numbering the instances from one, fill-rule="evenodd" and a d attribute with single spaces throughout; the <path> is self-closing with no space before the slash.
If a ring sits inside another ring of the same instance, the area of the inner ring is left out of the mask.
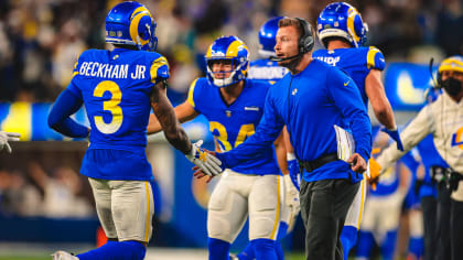
<path id="1" fill-rule="evenodd" d="M 294 26 L 283 26 L 278 29 L 277 44 L 274 45 L 277 57 L 284 58 L 298 55 L 298 42 L 299 33 Z M 292 59 L 279 62 L 278 65 L 283 66 L 291 62 Z"/>

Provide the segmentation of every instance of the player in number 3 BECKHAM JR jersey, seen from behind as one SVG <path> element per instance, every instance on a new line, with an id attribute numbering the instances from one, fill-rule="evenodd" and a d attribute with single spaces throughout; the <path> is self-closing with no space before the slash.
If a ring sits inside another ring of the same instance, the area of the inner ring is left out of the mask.
<path id="1" fill-rule="evenodd" d="M 108 237 L 104 246 L 53 259 L 141 260 L 151 238 L 154 212 L 147 126 L 152 108 L 169 142 L 212 175 L 220 167 L 191 144 L 165 96 L 169 65 L 155 53 L 155 22 L 138 2 L 122 2 L 106 17 L 106 42 L 115 48 L 80 54 L 73 79 L 54 104 L 49 124 L 73 138 L 89 138 L 80 173 L 88 176 L 98 218 Z M 71 118 L 85 105 L 90 129 Z"/>

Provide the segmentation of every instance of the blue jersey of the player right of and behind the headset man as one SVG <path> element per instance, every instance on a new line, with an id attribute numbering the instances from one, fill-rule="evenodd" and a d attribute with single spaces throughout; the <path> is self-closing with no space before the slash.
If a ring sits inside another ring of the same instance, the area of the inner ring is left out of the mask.
<path id="1" fill-rule="evenodd" d="M 348 47 L 333 51 L 317 50 L 313 57 L 336 66 L 346 72 L 360 90 L 365 107 L 368 106 L 368 97 L 365 91 L 365 78 L 372 68 L 383 71 L 386 66 L 383 53 L 376 47 Z"/>

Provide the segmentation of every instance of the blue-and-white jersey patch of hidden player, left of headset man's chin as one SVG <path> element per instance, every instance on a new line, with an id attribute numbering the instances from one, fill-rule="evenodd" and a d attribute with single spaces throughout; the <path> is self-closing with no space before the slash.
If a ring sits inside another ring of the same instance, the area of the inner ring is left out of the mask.
<path id="1" fill-rule="evenodd" d="M 288 73 L 288 68 L 278 65 L 268 58 L 257 59 L 250 63 L 248 69 L 249 79 L 266 80 L 274 84 Z"/>

